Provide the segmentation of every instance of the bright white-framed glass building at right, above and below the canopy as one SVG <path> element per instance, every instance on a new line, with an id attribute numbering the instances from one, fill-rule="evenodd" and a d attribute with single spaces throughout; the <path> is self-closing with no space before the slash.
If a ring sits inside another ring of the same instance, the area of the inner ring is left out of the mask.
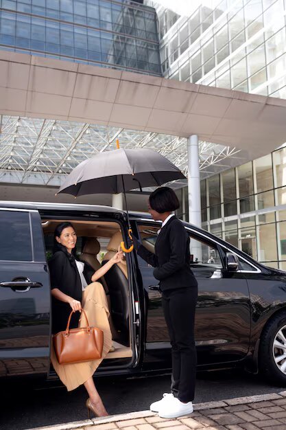
<path id="1" fill-rule="evenodd" d="M 147 3 L 166 78 L 286 98 L 285 0 L 210 0 L 188 16 Z M 286 270 L 286 146 L 202 180 L 201 206 L 204 229 Z"/>

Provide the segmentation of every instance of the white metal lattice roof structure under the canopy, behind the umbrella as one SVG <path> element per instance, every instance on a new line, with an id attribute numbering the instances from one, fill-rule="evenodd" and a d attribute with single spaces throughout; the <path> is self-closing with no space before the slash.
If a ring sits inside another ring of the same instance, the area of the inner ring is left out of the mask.
<path id="1" fill-rule="evenodd" d="M 66 174 L 97 152 L 152 148 L 187 175 L 187 139 L 126 128 L 60 120 L 0 116 L 0 181 L 59 186 Z M 202 178 L 248 160 L 243 150 L 200 142 Z M 174 184 L 175 185 L 175 184 Z M 184 181 L 176 182 L 176 188 Z"/>

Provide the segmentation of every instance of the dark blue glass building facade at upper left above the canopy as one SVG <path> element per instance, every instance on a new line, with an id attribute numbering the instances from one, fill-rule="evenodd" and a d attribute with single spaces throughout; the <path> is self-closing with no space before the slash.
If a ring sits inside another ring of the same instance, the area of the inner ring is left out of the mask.
<path id="1" fill-rule="evenodd" d="M 0 0 L 0 49 L 161 76 L 156 12 L 135 1 Z"/>

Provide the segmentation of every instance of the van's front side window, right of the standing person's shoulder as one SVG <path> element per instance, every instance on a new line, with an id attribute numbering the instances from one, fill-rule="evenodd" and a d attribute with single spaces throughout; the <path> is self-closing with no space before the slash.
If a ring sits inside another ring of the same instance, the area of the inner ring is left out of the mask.
<path id="1" fill-rule="evenodd" d="M 215 244 L 190 236 L 191 265 L 222 269 L 222 259 Z"/>

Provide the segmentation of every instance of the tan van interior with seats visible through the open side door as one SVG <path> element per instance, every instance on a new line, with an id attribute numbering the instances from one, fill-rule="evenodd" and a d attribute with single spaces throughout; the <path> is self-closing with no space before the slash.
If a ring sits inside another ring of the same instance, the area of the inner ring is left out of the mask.
<path id="1" fill-rule="evenodd" d="M 111 221 L 42 220 L 47 261 L 53 254 L 53 231 L 63 221 L 70 221 L 78 236 L 78 259 L 88 263 L 95 271 L 106 264 L 118 251 L 123 240 L 120 225 Z M 126 259 L 114 264 L 99 282 L 104 286 L 110 310 L 112 346 L 106 359 L 132 357 L 130 339 L 130 285 Z"/>

